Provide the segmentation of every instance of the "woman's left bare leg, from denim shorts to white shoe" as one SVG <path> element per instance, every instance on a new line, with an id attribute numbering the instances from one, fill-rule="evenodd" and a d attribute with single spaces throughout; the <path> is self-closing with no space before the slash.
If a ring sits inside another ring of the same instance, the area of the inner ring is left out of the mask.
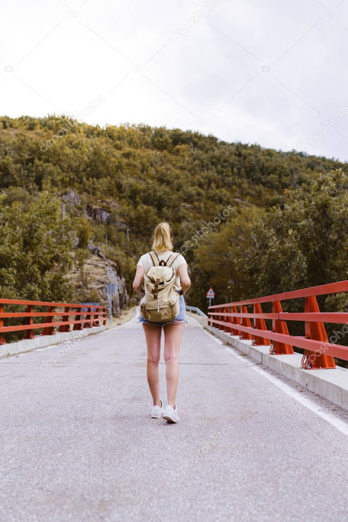
<path id="1" fill-rule="evenodd" d="M 160 406 L 160 375 L 158 365 L 161 354 L 162 328 L 147 323 L 142 323 L 142 327 L 145 332 L 146 344 L 148 347 L 147 377 L 153 399 L 153 406 Z"/>

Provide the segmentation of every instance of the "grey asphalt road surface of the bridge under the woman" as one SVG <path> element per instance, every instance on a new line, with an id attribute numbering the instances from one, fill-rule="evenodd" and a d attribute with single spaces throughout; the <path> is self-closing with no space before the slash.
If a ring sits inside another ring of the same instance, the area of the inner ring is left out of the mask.
<path id="1" fill-rule="evenodd" d="M 176 425 L 149 417 L 135 319 L 69 348 L 0 360 L 0 520 L 346 519 L 347 436 L 335 426 L 344 414 L 332 406 L 332 422 L 321 418 L 194 319 Z M 164 372 L 161 362 L 162 389 Z"/>

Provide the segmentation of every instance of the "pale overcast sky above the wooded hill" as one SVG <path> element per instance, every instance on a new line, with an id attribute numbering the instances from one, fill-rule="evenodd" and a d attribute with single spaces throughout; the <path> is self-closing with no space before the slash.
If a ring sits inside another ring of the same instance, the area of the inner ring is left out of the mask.
<path id="1" fill-rule="evenodd" d="M 17 0 L 1 26 L 2 115 L 348 160 L 348 0 Z"/>

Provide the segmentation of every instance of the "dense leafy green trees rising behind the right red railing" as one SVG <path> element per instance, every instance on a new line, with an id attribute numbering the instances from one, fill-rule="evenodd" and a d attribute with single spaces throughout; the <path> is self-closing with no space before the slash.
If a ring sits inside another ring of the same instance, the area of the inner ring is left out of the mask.
<path id="1" fill-rule="evenodd" d="M 285 205 L 238 211 L 195 249 L 199 277 L 214 285 L 220 302 L 231 279 L 234 300 L 346 279 L 347 189 L 339 169 L 289 192 Z M 341 311 L 348 305 L 341 296 L 329 299 Z"/>

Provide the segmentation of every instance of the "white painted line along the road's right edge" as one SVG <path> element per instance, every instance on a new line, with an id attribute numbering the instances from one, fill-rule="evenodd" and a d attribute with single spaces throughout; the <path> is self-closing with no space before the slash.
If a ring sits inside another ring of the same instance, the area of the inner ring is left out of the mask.
<path id="1" fill-rule="evenodd" d="M 209 334 L 207 331 L 206 334 L 209 335 L 209 337 L 211 337 L 212 339 L 214 339 L 214 341 L 217 342 L 219 345 L 224 344 L 224 342 L 221 339 L 213 336 L 212 334 Z M 299 404 L 302 404 L 302 406 L 304 406 L 308 410 L 315 413 L 318 417 L 331 424 L 331 426 L 339 430 L 344 435 L 348 435 L 348 424 L 341 420 L 339 417 L 336 417 L 332 413 L 327 413 L 323 411 L 313 401 L 307 399 L 306 397 L 303 397 L 299 392 L 297 392 L 291 386 L 289 386 L 289 384 L 285 384 L 280 378 L 271 375 L 266 370 L 263 370 L 260 366 L 254 364 L 253 362 L 250 362 L 249 358 L 240 355 L 240 352 L 236 348 L 229 348 L 225 346 L 225 350 L 227 350 L 227 352 L 232 353 L 232 355 L 234 355 L 236 359 L 242 361 L 251 370 L 254 370 L 254 372 L 268 379 L 268 381 L 274 384 L 274 386 L 277 386 L 277 388 L 281 389 L 282 392 L 284 392 L 286 395 L 289 395 L 289 397 L 291 397 L 292 399 L 295 399 L 297 402 L 299 402 Z"/>

